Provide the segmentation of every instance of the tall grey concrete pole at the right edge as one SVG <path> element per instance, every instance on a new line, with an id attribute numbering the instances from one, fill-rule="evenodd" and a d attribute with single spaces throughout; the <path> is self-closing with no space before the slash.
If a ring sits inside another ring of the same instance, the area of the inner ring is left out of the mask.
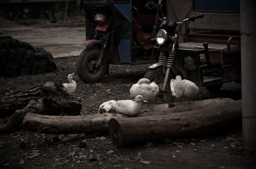
<path id="1" fill-rule="evenodd" d="M 256 151 L 256 2 L 240 0 L 243 148 Z"/>

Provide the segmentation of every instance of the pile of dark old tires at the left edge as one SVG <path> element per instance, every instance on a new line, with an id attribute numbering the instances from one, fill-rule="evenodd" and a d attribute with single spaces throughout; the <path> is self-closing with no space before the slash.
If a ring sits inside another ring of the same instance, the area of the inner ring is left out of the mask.
<path id="1" fill-rule="evenodd" d="M 42 74 L 56 69 L 52 54 L 44 48 L 0 36 L 0 77 Z"/>

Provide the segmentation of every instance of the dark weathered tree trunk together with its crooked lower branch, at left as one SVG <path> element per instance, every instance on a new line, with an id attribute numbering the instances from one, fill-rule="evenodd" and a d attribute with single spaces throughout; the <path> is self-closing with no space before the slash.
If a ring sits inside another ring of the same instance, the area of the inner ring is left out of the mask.
<path id="1" fill-rule="evenodd" d="M 1 121 L 0 133 L 10 132 L 13 128 L 20 126 L 28 112 L 43 115 L 79 115 L 82 107 L 81 97 L 69 95 L 65 92 L 62 83 L 53 82 L 2 97 L 0 105 L 3 111 L 1 115 L 11 116 Z M 13 115 L 12 111 L 15 111 Z"/>

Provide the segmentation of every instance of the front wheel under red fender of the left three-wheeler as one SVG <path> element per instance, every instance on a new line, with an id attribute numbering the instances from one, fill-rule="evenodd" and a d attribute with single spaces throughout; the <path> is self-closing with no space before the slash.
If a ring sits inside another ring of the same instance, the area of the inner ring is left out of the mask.
<path id="1" fill-rule="evenodd" d="M 102 59 L 101 65 L 97 66 L 100 49 L 89 47 L 84 49 L 78 57 L 77 72 L 79 78 L 86 83 L 100 82 L 107 71 L 107 60 Z"/>

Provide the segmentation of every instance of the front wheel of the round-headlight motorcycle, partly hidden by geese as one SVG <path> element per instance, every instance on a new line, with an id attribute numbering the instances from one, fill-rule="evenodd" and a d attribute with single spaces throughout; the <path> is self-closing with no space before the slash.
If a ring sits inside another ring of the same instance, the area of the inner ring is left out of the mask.
<path id="1" fill-rule="evenodd" d="M 161 87 L 164 83 L 165 73 L 162 66 L 159 66 L 154 69 L 150 69 L 146 74 L 144 75 L 144 78 L 147 78 L 150 80 L 150 82 L 155 82 L 159 87 L 159 92 L 156 95 L 155 98 L 150 99 L 149 103 L 152 104 L 165 104 L 165 103 L 172 103 L 174 101 L 174 96 L 171 92 L 171 86 L 170 81 L 171 79 L 174 79 L 174 76 L 170 73 L 169 80 L 166 86 L 165 91 L 161 90 Z M 147 100 L 148 101 L 148 100 Z"/>

